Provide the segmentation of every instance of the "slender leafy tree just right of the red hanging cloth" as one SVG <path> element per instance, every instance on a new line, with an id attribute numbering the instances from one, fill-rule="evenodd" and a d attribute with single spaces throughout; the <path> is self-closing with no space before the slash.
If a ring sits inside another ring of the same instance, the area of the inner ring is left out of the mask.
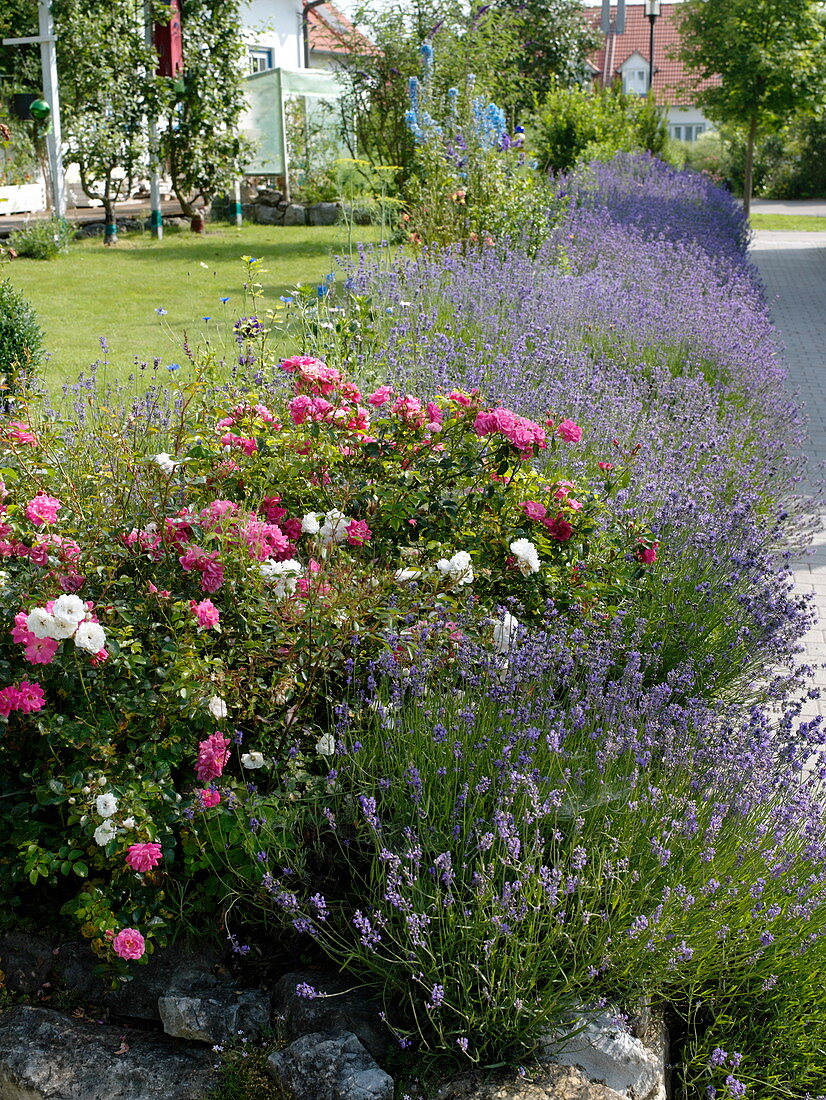
<path id="1" fill-rule="evenodd" d="M 229 190 L 249 143 L 239 134 L 244 109 L 240 0 L 181 0 L 183 80 L 167 81 L 161 155 L 188 218 Z"/>

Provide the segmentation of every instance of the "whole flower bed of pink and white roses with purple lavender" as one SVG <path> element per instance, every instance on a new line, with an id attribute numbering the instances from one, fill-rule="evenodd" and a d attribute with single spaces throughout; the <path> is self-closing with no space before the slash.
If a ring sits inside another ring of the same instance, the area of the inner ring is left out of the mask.
<path id="1" fill-rule="evenodd" d="M 539 243 L 363 253 L 277 321 L 247 261 L 229 373 L 21 404 L 7 904 L 120 974 L 305 937 L 419 1065 L 653 1002 L 675 1096 L 826 1089 L 804 429 L 747 241 L 620 156 Z"/>

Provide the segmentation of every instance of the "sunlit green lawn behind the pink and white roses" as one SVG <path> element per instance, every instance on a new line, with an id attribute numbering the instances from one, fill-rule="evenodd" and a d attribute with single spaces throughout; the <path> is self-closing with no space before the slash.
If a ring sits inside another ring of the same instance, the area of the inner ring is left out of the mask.
<path id="1" fill-rule="evenodd" d="M 245 311 L 242 255 L 264 260 L 265 307 L 298 283 L 316 284 L 335 271 L 334 257 L 375 243 L 378 228 L 210 226 L 198 234 L 122 234 L 114 249 L 100 239 L 77 241 L 56 260 L 15 260 L 0 277 L 32 304 L 45 333 L 49 361 L 45 381 L 74 381 L 108 345 L 110 376 L 125 377 L 135 356 L 150 363 L 178 362 L 186 333 L 194 344 L 224 331 Z M 228 302 L 220 299 L 228 297 Z M 158 315 L 157 309 L 165 309 Z M 209 320 L 205 320 L 205 318 Z"/>

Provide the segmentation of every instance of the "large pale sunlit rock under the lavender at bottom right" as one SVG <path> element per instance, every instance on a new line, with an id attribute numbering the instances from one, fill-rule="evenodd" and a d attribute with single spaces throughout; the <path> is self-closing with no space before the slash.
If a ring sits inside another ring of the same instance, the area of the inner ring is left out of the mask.
<path id="1" fill-rule="evenodd" d="M 665 1100 L 661 1055 L 650 1050 L 609 1012 L 575 1021 L 576 1035 L 561 1042 L 549 1037 L 544 1057 L 562 1066 L 577 1066 L 628 1100 Z"/>

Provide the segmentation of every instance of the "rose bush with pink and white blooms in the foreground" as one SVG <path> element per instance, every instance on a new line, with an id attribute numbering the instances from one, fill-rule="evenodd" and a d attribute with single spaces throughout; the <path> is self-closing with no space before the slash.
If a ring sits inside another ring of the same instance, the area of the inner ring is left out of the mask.
<path id="1" fill-rule="evenodd" d="M 627 470 L 566 476 L 582 429 L 559 413 L 362 395 L 307 356 L 280 377 L 196 377 L 166 450 L 101 436 L 95 471 L 47 418 L 3 426 L 4 882 L 55 888 L 108 957 L 137 957 L 119 928 L 162 934 L 176 876 L 220 891 L 202 840 L 244 777 L 318 787 L 379 652 L 427 636 L 449 675 L 463 637 L 504 654 L 551 608 L 612 616 L 656 558 L 612 515 Z"/>

